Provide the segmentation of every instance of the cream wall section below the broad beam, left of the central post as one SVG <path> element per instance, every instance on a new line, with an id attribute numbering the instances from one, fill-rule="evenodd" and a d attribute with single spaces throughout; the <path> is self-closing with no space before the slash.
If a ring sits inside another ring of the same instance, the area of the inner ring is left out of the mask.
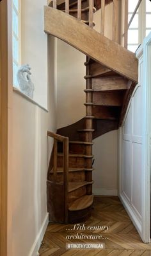
<path id="1" fill-rule="evenodd" d="M 85 115 L 85 61 L 83 53 L 58 39 L 58 129 Z"/>

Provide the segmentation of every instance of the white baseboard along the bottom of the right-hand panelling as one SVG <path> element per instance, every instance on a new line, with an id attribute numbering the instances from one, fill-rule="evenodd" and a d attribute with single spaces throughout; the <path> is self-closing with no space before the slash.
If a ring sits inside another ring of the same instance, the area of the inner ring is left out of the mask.
<path id="1" fill-rule="evenodd" d="M 129 203 L 127 202 L 127 199 L 125 199 L 125 197 L 122 194 L 120 194 L 119 197 L 120 197 L 120 201 L 122 201 L 122 204 L 123 204 L 125 210 L 127 211 L 127 214 L 129 215 L 132 223 L 136 227 L 136 230 L 138 230 L 139 235 L 141 236 L 141 223 L 140 223 L 137 215 L 135 214 L 134 210 L 132 209 L 132 206 L 129 205 Z"/>

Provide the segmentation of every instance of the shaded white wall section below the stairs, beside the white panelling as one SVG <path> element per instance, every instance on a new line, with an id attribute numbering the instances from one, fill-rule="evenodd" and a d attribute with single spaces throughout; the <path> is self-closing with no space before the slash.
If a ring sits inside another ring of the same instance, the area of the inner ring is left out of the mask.
<path id="1" fill-rule="evenodd" d="M 117 196 L 118 131 L 103 134 L 93 142 L 93 194 Z"/>

